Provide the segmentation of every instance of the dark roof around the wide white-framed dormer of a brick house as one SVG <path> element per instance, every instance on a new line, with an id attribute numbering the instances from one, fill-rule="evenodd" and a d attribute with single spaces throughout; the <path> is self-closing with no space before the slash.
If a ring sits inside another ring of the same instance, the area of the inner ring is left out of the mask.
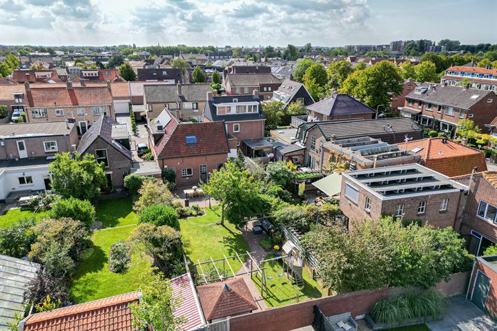
<path id="1" fill-rule="evenodd" d="M 219 105 L 220 103 L 233 103 L 233 99 L 237 99 L 237 102 L 257 101 L 257 103 L 259 103 L 259 112 L 225 115 L 216 114 L 215 105 Z M 255 98 L 253 95 L 223 95 L 220 97 L 213 97 L 213 99 L 210 99 L 206 102 L 204 108 L 204 117 L 206 117 L 210 121 L 256 121 L 258 119 L 264 119 L 264 114 L 262 113 L 260 98 Z"/>

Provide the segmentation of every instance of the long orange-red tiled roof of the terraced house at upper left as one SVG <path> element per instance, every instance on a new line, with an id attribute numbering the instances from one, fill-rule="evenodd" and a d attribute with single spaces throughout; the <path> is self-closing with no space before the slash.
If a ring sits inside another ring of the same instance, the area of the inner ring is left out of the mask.
<path id="1" fill-rule="evenodd" d="M 29 107 L 106 106 L 112 103 L 107 87 L 85 86 L 67 88 L 36 88 L 26 92 Z"/>

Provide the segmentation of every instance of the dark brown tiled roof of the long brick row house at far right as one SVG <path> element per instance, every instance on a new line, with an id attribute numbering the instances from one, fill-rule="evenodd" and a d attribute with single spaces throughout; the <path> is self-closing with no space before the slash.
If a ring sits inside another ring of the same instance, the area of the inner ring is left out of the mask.
<path id="1" fill-rule="evenodd" d="M 431 86 L 431 88 L 430 88 Z M 493 91 L 477 90 L 460 86 L 444 86 L 439 83 L 422 83 L 419 88 L 427 88 L 422 93 L 416 89 L 407 94 L 406 99 L 421 100 L 443 106 L 470 109 L 481 99 L 485 99 Z"/>

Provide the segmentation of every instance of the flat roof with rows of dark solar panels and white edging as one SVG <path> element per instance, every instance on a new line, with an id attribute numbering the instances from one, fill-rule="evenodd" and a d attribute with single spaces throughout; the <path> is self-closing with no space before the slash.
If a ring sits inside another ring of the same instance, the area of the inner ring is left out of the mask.
<path id="1" fill-rule="evenodd" d="M 468 190 L 466 185 L 418 163 L 355 170 L 343 175 L 382 200 Z"/>

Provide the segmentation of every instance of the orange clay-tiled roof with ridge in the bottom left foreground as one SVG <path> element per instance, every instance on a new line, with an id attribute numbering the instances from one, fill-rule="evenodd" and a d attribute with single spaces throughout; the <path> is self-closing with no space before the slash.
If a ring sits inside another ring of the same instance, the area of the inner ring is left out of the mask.
<path id="1" fill-rule="evenodd" d="M 124 331 L 133 328 L 133 314 L 129 303 L 138 301 L 138 292 L 70 305 L 69 307 L 30 315 L 24 323 L 25 331 Z"/>

